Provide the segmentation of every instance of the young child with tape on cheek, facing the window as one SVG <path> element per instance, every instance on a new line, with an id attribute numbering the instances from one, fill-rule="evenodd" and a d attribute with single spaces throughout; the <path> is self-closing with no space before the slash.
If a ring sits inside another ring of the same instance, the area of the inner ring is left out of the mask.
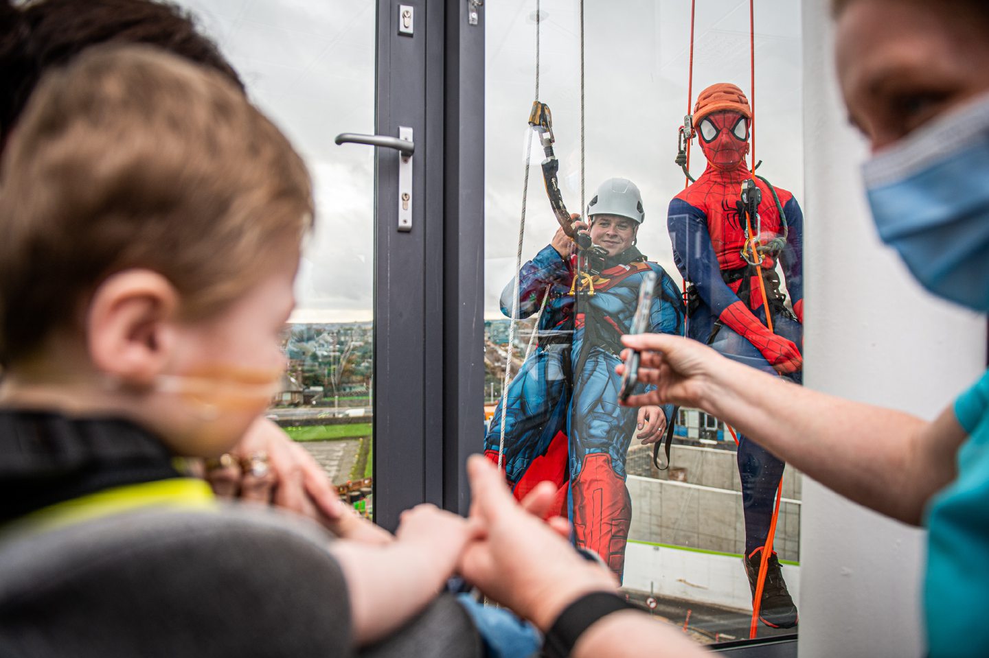
<path id="1" fill-rule="evenodd" d="M 337 655 L 439 605 L 465 520 L 330 542 L 177 465 L 265 410 L 312 217 L 302 160 L 220 73 L 97 47 L 34 92 L 0 162 L 0 653 Z"/>

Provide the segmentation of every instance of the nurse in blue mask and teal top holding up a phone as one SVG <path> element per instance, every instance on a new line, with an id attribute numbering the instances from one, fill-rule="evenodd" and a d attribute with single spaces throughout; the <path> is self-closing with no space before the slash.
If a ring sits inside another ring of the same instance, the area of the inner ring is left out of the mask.
<path id="1" fill-rule="evenodd" d="M 989 3 L 836 0 L 834 11 L 845 103 L 873 150 L 863 177 L 879 236 L 925 288 L 989 311 Z M 930 655 L 985 655 L 989 373 L 928 422 L 695 341 L 623 341 L 645 351 L 639 378 L 657 386 L 630 404 L 699 407 L 843 496 L 927 527 Z"/>

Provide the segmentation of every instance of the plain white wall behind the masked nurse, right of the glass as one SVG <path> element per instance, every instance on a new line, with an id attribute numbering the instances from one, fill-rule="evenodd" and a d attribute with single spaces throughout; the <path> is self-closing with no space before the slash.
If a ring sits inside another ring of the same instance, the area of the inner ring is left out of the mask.
<path id="1" fill-rule="evenodd" d="M 933 418 L 984 370 L 985 319 L 925 293 L 876 237 L 829 4 L 803 0 L 805 384 Z M 803 492 L 800 658 L 924 655 L 925 533 L 809 478 Z"/>

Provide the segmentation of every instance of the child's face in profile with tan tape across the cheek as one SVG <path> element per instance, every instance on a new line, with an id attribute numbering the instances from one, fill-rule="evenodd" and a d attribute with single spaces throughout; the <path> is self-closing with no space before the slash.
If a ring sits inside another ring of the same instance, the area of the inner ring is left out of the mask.
<path id="1" fill-rule="evenodd" d="M 183 325 L 160 389 L 175 406 L 166 443 L 189 456 L 228 451 L 271 403 L 285 370 L 281 335 L 295 305 L 299 253 L 219 315 Z"/>

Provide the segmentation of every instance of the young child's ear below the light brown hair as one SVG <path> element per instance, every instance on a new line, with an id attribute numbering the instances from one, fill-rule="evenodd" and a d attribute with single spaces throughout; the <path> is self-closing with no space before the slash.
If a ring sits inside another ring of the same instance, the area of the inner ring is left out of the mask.
<path id="1" fill-rule="evenodd" d="M 90 358 L 124 383 L 150 384 L 174 345 L 178 291 L 149 270 L 125 270 L 104 281 L 86 316 Z"/>

